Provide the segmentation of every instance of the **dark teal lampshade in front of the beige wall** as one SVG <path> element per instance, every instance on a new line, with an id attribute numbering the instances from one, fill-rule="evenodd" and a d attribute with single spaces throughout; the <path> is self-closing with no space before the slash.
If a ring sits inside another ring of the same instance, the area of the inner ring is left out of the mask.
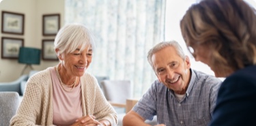
<path id="1" fill-rule="evenodd" d="M 20 47 L 18 63 L 40 64 L 41 50 L 38 48 Z"/>

